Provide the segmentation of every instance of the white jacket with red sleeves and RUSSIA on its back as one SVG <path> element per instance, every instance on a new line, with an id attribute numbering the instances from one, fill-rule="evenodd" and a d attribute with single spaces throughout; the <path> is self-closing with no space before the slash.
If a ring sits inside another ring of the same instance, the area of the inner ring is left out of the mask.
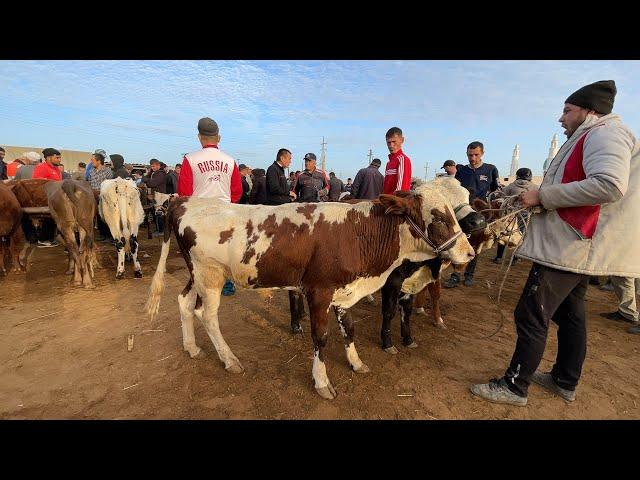
<path id="1" fill-rule="evenodd" d="M 217 145 L 205 145 L 202 150 L 184 156 L 178 178 L 178 195 L 238 203 L 242 197 L 238 165 Z"/>

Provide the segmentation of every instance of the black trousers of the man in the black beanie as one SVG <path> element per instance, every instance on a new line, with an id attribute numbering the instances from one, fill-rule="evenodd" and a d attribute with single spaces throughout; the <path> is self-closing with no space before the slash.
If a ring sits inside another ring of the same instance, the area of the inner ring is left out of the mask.
<path id="1" fill-rule="evenodd" d="M 560 387 L 575 390 L 587 354 L 588 285 L 588 275 L 533 264 L 514 311 L 518 340 L 504 376 L 512 392 L 527 396 L 531 376 L 542 360 L 550 319 L 558 325 L 558 355 L 551 375 Z"/>

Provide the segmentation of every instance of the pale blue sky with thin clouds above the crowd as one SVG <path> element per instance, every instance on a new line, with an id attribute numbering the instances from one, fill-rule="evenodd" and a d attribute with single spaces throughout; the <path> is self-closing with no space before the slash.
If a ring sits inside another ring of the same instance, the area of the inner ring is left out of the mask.
<path id="1" fill-rule="evenodd" d="M 452 158 L 466 163 L 469 142 L 509 173 L 542 172 L 551 138 L 564 142 L 564 99 L 614 79 L 614 112 L 640 131 L 640 61 L 0 61 L 0 145 L 70 150 L 104 148 L 127 162 L 169 165 L 199 148 L 198 119 L 220 125 L 220 147 L 266 168 L 280 147 L 302 167 L 320 156 L 346 180 L 386 163 L 385 132 L 402 128 L 414 176 L 429 177 Z M 442 171 L 442 170 L 438 170 Z"/>

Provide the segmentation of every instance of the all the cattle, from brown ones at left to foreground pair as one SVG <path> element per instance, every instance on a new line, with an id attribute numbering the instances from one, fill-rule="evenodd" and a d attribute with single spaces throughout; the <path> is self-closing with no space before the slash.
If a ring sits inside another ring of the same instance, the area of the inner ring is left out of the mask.
<path id="1" fill-rule="evenodd" d="M 347 361 L 354 371 L 367 372 L 354 345 L 349 308 L 356 302 L 381 289 L 382 347 L 397 353 L 390 324 L 399 310 L 402 344 L 413 348 L 413 296 L 427 288 L 434 306 L 433 321 L 443 325 L 438 307 L 441 272 L 451 264 L 461 268 L 496 241 L 510 246 L 520 241 L 515 222 L 497 218 L 497 210 L 480 200 L 470 205 L 469 192 L 448 178 L 373 201 L 279 206 L 192 197 L 171 202 L 160 199 L 159 204 L 163 201 L 168 208 L 147 303 L 150 318 L 159 311 L 173 232 L 189 270 L 187 285 L 178 295 L 183 346 L 189 355 L 202 355 L 194 336 L 194 317 L 198 317 L 225 368 L 233 373 L 243 371 L 218 322 L 226 279 L 249 289 L 296 291 L 309 305 L 312 375 L 316 391 L 326 399 L 336 396 L 323 354 L 331 309 L 344 337 Z M 67 273 L 73 274 L 73 284 L 94 288 L 96 201 L 88 183 L 43 179 L 0 183 L 0 205 L 3 273 L 5 247 L 11 252 L 13 270 L 26 270 L 29 244 L 22 233 L 23 215 L 37 221 L 39 215 L 49 214 L 68 252 Z M 124 276 L 126 254 L 133 260 L 135 276 L 141 277 L 137 235 L 145 212 L 138 188 L 120 178 L 103 182 L 98 210 L 115 240 L 116 278 Z M 292 325 L 296 323 L 300 329 L 299 319 L 292 318 Z"/>

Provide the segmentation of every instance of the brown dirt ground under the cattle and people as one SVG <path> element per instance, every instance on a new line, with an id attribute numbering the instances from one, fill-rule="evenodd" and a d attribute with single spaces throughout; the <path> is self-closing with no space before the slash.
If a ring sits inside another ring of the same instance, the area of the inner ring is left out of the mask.
<path id="1" fill-rule="evenodd" d="M 146 232 L 141 232 L 146 237 Z M 500 269 L 481 255 L 476 284 L 443 290 L 448 330 L 428 317 L 413 318 L 416 349 L 400 342 L 399 318 L 393 322 L 398 355 L 379 346 L 379 306 L 361 301 L 352 309 L 356 346 L 371 368 L 353 373 L 335 320 L 330 322 L 327 371 L 338 391 L 320 398 L 311 377 L 312 343 L 308 320 L 304 335 L 289 333 L 287 293 L 271 302 L 255 291 L 223 297 L 220 324 L 225 339 L 245 367 L 224 370 L 202 325 L 196 340 L 207 354 L 191 359 L 182 350 L 177 295 L 187 270 L 175 240 L 167 263 L 167 289 L 156 321 L 143 313 L 158 262 L 160 239 L 142 240 L 144 278 L 115 280 L 113 247 L 100 244 L 97 290 L 74 288 L 64 275 L 62 247 L 38 249 L 29 272 L 0 278 L 0 418 L 2 419 L 639 419 L 640 337 L 626 324 L 598 314 L 616 308 L 613 293 L 595 287 L 587 295 L 588 352 L 577 400 L 532 385 L 529 405 L 486 403 L 469 385 L 498 377 L 515 344 L 512 311 L 530 264 L 520 262 L 507 279 L 502 300 L 506 323 L 499 322 L 487 282 Z M 449 272 L 445 275 L 448 276 Z M 380 295 L 375 295 L 378 304 Z M 541 368 L 550 369 L 556 353 L 553 325 Z M 127 337 L 134 347 L 127 351 Z"/>

